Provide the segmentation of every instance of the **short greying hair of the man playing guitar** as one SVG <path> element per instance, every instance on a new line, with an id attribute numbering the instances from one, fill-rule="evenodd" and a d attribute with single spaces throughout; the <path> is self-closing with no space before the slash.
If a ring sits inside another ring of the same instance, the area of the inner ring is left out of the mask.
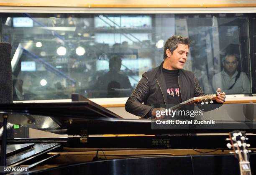
<path id="1" fill-rule="evenodd" d="M 179 44 L 185 44 L 190 46 L 191 41 L 188 37 L 182 37 L 180 35 L 174 35 L 168 38 L 164 44 L 164 59 L 167 57 L 166 50 L 169 49 L 171 53 L 178 47 Z"/>

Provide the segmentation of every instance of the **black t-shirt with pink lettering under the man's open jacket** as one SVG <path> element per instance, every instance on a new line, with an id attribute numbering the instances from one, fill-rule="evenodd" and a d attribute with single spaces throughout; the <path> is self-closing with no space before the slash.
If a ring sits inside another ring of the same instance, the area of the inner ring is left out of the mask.
<path id="1" fill-rule="evenodd" d="M 171 71 L 163 67 L 162 70 L 167 87 L 167 89 L 164 90 L 164 93 L 167 93 L 167 107 L 170 108 L 182 102 L 178 83 L 179 70 Z"/>

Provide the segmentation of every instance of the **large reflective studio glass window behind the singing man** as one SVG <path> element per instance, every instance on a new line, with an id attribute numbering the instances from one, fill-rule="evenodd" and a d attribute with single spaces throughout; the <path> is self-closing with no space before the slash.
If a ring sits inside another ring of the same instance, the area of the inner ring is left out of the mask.
<path id="1" fill-rule="evenodd" d="M 184 69 L 206 94 L 252 93 L 248 14 L 0 13 L 14 100 L 128 97 L 163 61 L 170 36 L 192 40 Z"/>

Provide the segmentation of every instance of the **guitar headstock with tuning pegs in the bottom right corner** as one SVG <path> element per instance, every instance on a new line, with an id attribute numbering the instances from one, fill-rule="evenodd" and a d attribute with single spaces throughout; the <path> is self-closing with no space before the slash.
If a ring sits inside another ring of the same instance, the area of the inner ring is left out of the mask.
<path id="1" fill-rule="evenodd" d="M 227 141 L 230 140 L 230 143 L 227 144 L 227 147 L 229 149 L 233 148 L 233 152 L 230 152 L 232 154 L 235 154 L 235 157 L 239 161 L 248 161 L 248 152 L 251 152 L 251 150 L 248 150 L 248 147 L 250 147 L 250 144 L 246 143 L 246 134 L 245 132 L 241 131 L 233 131 L 229 133 L 229 138 L 226 139 Z"/>

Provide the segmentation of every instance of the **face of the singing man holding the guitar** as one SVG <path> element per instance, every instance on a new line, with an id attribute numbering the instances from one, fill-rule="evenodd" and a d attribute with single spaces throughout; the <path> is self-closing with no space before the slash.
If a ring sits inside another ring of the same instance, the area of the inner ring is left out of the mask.
<path id="1" fill-rule="evenodd" d="M 168 61 L 171 70 L 182 69 L 187 61 L 187 54 L 189 47 L 185 44 L 178 44 L 178 47 L 171 53 L 169 49 L 166 50 L 166 61 Z"/>

